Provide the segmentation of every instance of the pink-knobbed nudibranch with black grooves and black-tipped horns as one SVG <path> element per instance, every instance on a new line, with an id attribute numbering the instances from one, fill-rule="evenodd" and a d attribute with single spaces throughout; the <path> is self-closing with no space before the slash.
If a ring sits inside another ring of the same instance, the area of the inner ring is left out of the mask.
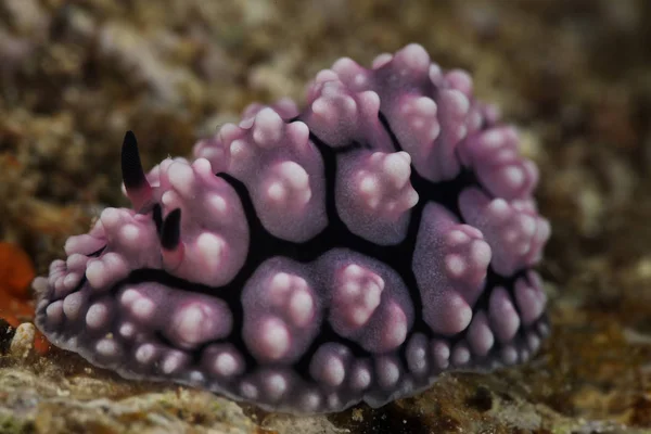
<path id="1" fill-rule="evenodd" d="M 35 280 L 54 344 L 130 379 L 294 413 L 382 406 L 549 333 L 536 165 L 472 79 L 409 44 L 321 71 L 143 171 Z"/>

